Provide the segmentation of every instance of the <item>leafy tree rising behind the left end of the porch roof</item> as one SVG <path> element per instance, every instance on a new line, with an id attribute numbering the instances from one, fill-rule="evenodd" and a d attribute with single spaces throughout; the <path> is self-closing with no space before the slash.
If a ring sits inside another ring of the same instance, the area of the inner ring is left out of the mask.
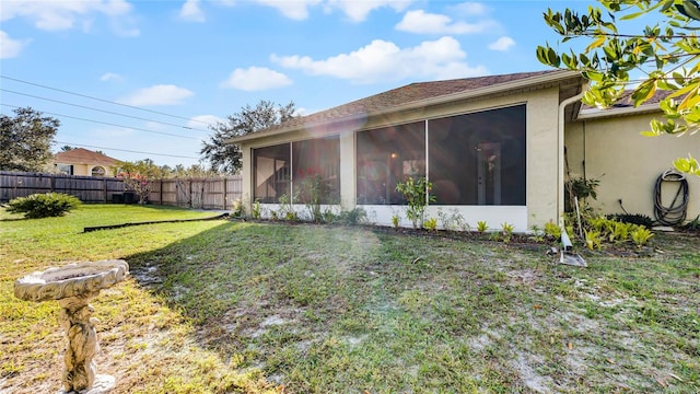
<path id="1" fill-rule="evenodd" d="M 246 105 L 240 113 L 229 115 L 225 121 L 210 126 L 213 134 L 203 142 L 200 151 L 203 161 L 209 163 L 212 171 L 236 173 L 241 170 L 242 152 L 237 144 L 226 141 L 233 137 L 245 136 L 249 132 L 279 125 L 295 116 L 293 102 L 282 106 L 269 101 L 260 101 L 255 107 Z"/>

